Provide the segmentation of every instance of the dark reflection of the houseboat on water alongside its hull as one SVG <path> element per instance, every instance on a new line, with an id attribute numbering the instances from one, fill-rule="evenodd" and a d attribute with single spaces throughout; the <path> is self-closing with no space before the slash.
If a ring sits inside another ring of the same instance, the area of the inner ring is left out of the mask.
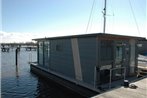
<path id="1" fill-rule="evenodd" d="M 43 78 L 38 78 L 36 98 L 84 98 L 63 86 Z"/>

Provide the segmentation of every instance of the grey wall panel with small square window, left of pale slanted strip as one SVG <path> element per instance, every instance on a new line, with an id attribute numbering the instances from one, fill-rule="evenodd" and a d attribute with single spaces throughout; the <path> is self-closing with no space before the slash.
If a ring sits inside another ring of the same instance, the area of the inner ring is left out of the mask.
<path id="1" fill-rule="evenodd" d="M 70 78 L 75 78 L 70 39 L 51 40 L 50 48 L 49 68 Z"/>

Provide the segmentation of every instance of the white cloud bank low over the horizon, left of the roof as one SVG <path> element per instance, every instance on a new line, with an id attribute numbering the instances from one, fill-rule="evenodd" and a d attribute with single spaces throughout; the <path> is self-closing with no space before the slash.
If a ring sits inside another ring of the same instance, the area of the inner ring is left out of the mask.
<path id="1" fill-rule="evenodd" d="M 0 43 L 17 43 L 17 42 L 30 42 L 35 38 L 55 37 L 71 35 L 67 32 L 4 32 L 0 31 Z"/>

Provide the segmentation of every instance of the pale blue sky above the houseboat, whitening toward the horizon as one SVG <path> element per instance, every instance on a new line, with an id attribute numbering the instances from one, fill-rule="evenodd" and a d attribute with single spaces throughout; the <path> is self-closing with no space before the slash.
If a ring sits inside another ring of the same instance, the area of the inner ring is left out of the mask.
<path id="1" fill-rule="evenodd" d="M 0 5 L 1 42 L 103 32 L 104 0 L 1 0 Z M 147 38 L 146 0 L 107 0 L 106 18 L 106 33 Z"/>

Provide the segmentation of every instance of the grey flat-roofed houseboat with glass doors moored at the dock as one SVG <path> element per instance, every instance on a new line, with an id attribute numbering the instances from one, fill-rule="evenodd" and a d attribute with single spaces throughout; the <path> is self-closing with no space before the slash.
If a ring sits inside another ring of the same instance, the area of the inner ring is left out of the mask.
<path id="1" fill-rule="evenodd" d="M 136 75 L 141 39 L 106 33 L 34 39 L 38 59 L 31 71 L 78 93 L 100 92 L 104 84 Z"/>

